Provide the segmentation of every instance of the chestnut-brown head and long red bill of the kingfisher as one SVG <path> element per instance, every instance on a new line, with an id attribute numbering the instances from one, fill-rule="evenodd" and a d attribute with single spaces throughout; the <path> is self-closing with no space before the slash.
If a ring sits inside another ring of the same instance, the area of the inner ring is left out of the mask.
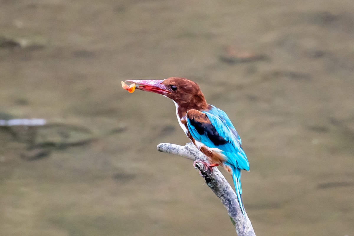
<path id="1" fill-rule="evenodd" d="M 170 77 L 165 80 L 126 80 L 136 84 L 136 89 L 162 94 L 171 98 L 179 106 L 201 104 L 206 106 L 206 101 L 199 85 L 191 80 L 181 77 Z"/>

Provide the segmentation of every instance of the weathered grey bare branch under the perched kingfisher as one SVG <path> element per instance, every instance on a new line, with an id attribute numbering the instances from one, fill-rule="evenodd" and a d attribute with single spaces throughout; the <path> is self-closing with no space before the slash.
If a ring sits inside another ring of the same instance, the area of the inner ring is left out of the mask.
<path id="1" fill-rule="evenodd" d="M 187 143 L 185 146 L 171 143 L 160 143 L 157 146 L 157 150 L 183 156 L 193 161 L 202 160 L 207 162 L 206 156 L 202 154 L 193 145 L 193 143 Z M 230 219 L 235 226 L 237 235 L 256 236 L 247 213 L 245 217 L 241 212 L 235 191 L 217 167 L 213 167 L 212 173 L 210 173 L 210 171 L 202 163 L 197 162 L 194 167 L 200 171 L 200 174 L 204 177 L 206 184 L 227 209 Z"/>

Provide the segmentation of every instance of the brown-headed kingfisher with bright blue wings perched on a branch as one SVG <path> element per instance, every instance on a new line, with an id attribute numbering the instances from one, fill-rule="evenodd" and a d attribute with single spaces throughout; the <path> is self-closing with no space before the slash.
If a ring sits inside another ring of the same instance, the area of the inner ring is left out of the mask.
<path id="1" fill-rule="evenodd" d="M 232 175 L 238 202 L 245 215 L 241 199 L 241 169 L 249 171 L 250 165 L 241 147 L 241 138 L 226 113 L 206 102 L 198 84 L 182 77 L 125 82 L 135 84 L 134 89 L 172 99 L 179 125 L 210 163 L 198 162 L 202 162 L 210 171 L 212 167 L 222 166 Z"/>

